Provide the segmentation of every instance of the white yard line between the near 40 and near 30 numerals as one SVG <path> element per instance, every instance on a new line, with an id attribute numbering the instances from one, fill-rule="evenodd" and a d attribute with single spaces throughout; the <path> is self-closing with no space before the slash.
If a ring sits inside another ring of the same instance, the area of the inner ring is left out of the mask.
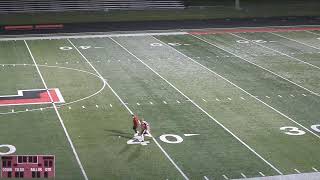
<path id="1" fill-rule="evenodd" d="M 215 121 L 218 125 L 220 125 L 225 131 L 230 133 L 235 139 L 237 139 L 241 144 L 243 144 L 245 147 L 247 147 L 252 153 L 254 153 L 256 156 L 258 156 L 261 160 L 263 160 L 266 164 L 268 164 L 271 168 L 273 168 L 277 173 L 282 175 L 282 172 L 278 170 L 275 166 L 273 166 L 270 162 L 265 160 L 260 154 L 258 154 L 254 149 L 252 149 L 248 144 L 246 144 L 244 141 L 242 141 L 238 136 L 236 136 L 233 132 L 231 132 L 228 128 L 226 128 L 223 124 L 221 124 L 218 120 L 216 120 L 214 117 L 212 117 L 208 112 L 206 112 L 204 109 L 202 109 L 197 103 L 195 103 L 193 100 L 191 100 L 187 95 L 185 95 L 183 92 L 181 92 L 177 87 L 175 87 L 171 82 L 169 82 L 167 79 L 162 77 L 158 72 L 153 70 L 148 64 L 143 62 L 139 57 L 134 55 L 132 52 L 130 52 L 128 49 L 126 49 L 124 46 L 122 46 L 120 43 L 118 43 L 116 40 L 110 38 L 112 41 L 117 43 L 120 47 L 122 47 L 125 51 L 127 51 L 129 54 L 131 54 L 133 57 L 135 57 L 138 61 L 140 61 L 142 64 L 144 64 L 147 68 L 149 68 L 153 73 L 158 75 L 162 80 L 164 80 L 166 83 L 168 83 L 172 88 L 174 88 L 176 91 L 178 91 L 181 95 L 183 95 L 186 99 L 188 99 L 194 106 L 196 106 L 198 109 L 200 109 L 203 113 L 205 113 L 208 117 L 210 117 L 213 121 Z"/>

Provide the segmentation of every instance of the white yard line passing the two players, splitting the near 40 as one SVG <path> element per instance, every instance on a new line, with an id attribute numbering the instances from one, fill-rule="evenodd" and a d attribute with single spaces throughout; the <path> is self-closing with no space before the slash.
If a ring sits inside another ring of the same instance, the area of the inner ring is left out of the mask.
<path id="1" fill-rule="evenodd" d="M 81 53 L 81 51 L 68 39 L 69 43 L 75 48 L 76 51 L 82 56 L 83 59 L 91 66 L 91 68 L 100 76 L 101 79 L 104 79 L 103 76 L 96 70 L 96 68 L 91 64 L 91 62 Z M 113 92 L 113 94 L 118 98 L 118 100 L 123 104 L 123 106 L 129 111 L 130 114 L 133 114 L 131 109 L 127 106 L 127 104 L 120 98 L 120 96 L 113 90 L 110 84 L 104 79 L 104 82 Z M 162 146 L 158 143 L 158 141 L 151 135 L 152 140 L 157 144 L 163 154 L 169 159 L 169 161 L 174 165 L 174 167 L 180 172 L 180 174 L 184 177 L 185 180 L 189 180 L 186 174 L 179 168 L 179 166 L 173 161 L 173 159 L 169 156 L 169 154 L 162 148 Z"/>

